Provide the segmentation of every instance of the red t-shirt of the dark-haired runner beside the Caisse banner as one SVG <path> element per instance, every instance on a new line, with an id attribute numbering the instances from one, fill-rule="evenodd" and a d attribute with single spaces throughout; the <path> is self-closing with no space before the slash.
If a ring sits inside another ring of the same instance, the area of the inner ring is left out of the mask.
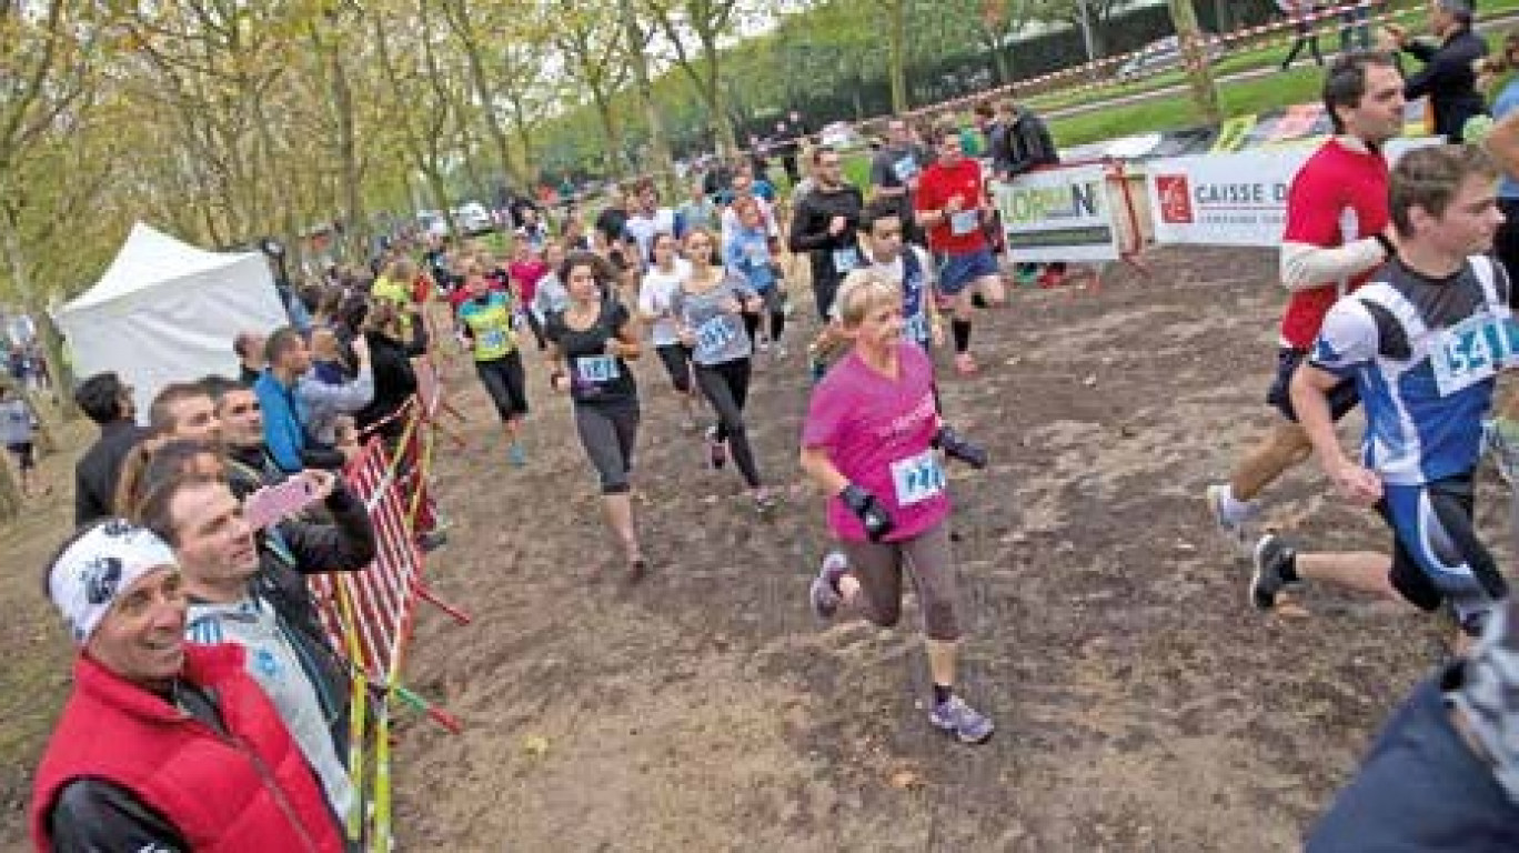
<path id="1" fill-rule="evenodd" d="M 1387 158 L 1381 152 L 1326 141 L 1297 170 L 1287 192 L 1282 242 L 1332 249 L 1379 234 L 1390 220 L 1387 189 Z M 1297 350 L 1311 348 L 1335 300 L 1366 284 L 1375 272 L 1373 268 L 1344 283 L 1325 281 L 1293 293 L 1282 315 L 1282 341 Z"/>

